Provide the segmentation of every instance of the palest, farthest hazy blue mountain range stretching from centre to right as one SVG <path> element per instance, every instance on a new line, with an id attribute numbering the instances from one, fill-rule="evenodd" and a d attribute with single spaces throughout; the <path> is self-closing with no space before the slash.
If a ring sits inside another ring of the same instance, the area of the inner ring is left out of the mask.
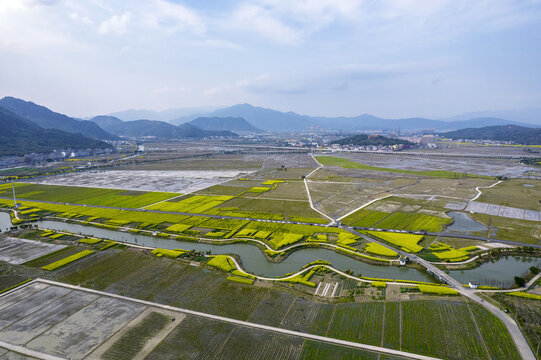
<path id="1" fill-rule="evenodd" d="M 266 131 L 307 131 L 311 127 L 320 127 L 326 130 L 342 131 L 370 131 L 370 130 L 401 130 L 411 131 L 420 129 L 434 129 L 436 131 L 457 130 L 468 127 L 483 127 L 495 125 L 522 125 L 506 119 L 495 117 L 475 117 L 467 120 L 443 121 L 425 118 L 384 119 L 369 114 L 355 117 L 320 117 L 299 115 L 294 112 L 280 112 L 272 109 L 240 104 L 212 111 L 208 114 L 199 114 L 171 120 L 173 124 L 188 122 L 197 117 L 241 117 L 256 128 Z"/>

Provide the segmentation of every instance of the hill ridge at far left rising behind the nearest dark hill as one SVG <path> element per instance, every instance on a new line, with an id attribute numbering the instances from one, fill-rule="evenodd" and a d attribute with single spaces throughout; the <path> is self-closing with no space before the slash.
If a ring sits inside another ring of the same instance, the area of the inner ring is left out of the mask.
<path id="1" fill-rule="evenodd" d="M 101 140 L 113 140 L 114 136 L 91 121 L 75 120 L 64 114 L 56 113 L 44 106 L 7 96 L 0 99 L 0 107 L 32 121 L 44 129 L 56 129 L 72 134 L 84 134 L 87 137 Z"/>

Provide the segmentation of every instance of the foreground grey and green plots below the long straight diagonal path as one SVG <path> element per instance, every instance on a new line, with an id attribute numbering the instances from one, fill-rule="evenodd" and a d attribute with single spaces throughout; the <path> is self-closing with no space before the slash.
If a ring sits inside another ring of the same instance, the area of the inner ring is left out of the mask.
<path id="1" fill-rule="evenodd" d="M 40 358 L 376 359 L 379 355 L 307 343 L 302 334 L 186 311 L 37 280 L 0 296 L 0 341 L 20 346 L 17 351 L 22 354 L 38 352 Z M 0 348 L 0 356 L 4 355 L 11 356 Z"/>

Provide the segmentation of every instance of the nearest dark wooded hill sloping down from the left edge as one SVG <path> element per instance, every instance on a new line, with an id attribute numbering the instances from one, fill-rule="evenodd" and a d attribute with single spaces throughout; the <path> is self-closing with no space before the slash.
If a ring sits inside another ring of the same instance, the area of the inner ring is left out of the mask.
<path id="1" fill-rule="evenodd" d="M 32 121 L 0 108 L 0 156 L 20 156 L 55 149 L 105 149 L 111 145 L 55 129 L 44 129 Z"/>

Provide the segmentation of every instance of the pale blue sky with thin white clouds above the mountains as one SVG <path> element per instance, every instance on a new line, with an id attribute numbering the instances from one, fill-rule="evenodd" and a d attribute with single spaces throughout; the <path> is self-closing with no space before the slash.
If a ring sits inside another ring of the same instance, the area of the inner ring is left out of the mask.
<path id="1" fill-rule="evenodd" d="M 0 0 L 0 97 L 72 116 L 541 106 L 541 0 Z"/>

